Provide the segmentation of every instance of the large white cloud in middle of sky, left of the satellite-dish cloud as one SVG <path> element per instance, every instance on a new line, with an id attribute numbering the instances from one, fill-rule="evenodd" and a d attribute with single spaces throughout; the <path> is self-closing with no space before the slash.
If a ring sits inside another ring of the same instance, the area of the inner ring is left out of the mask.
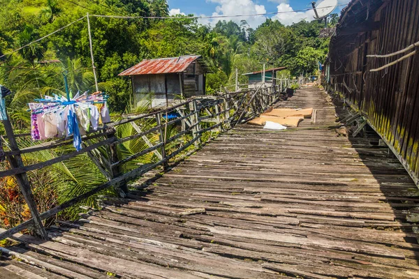
<path id="1" fill-rule="evenodd" d="M 207 0 L 212 3 L 218 3 L 219 6 L 216 6 L 215 13 L 212 13 L 212 16 L 217 15 L 249 15 L 243 17 L 224 17 L 224 18 L 214 18 L 208 22 L 216 24 L 219 20 L 233 20 L 237 24 L 240 24 L 240 21 L 246 20 L 247 23 L 252 28 L 258 27 L 260 24 L 265 22 L 266 17 L 263 15 L 250 16 L 254 14 L 263 14 L 266 13 L 265 6 L 258 5 L 252 0 Z M 201 22 L 205 22 L 201 20 Z"/>

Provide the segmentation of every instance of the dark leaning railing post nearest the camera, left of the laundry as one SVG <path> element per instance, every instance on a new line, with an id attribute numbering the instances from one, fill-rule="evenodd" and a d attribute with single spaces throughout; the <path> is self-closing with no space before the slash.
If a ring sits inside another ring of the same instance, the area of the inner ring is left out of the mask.
<path id="1" fill-rule="evenodd" d="M 7 116 L 7 113 L 6 113 Z M 15 133 L 13 133 L 12 124 L 8 120 L 8 116 L 6 120 L 3 120 L 3 126 L 4 130 L 6 131 L 6 135 L 8 137 L 8 141 L 10 144 L 11 151 L 20 151 L 19 146 L 17 145 Z M 24 167 L 22 157 L 20 157 L 20 154 L 17 153 L 15 156 L 7 156 L 8 162 L 10 163 L 10 167 L 13 169 L 18 167 Z M 22 192 L 22 195 L 27 202 L 27 205 L 29 207 L 29 211 L 31 212 L 32 218 L 34 218 L 34 224 L 35 229 L 38 232 L 38 234 L 41 235 L 41 237 L 45 240 L 48 240 L 48 234 L 45 231 L 45 227 L 42 224 L 41 218 L 39 218 L 39 212 L 36 208 L 36 202 L 34 198 L 34 194 L 32 193 L 31 184 L 29 182 L 27 173 L 24 172 L 22 174 L 16 174 L 15 175 L 17 185 L 20 188 L 20 191 Z"/>

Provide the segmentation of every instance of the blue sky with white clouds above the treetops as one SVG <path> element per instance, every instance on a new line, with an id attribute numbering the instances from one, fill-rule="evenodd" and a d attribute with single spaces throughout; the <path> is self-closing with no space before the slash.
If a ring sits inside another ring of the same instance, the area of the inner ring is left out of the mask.
<path id="1" fill-rule="evenodd" d="M 338 0 L 339 4 L 347 3 L 348 0 Z M 193 15 L 249 15 L 256 13 L 287 12 L 273 15 L 276 20 L 283 24 L 292 24 L 300 20 L 313 20 L 313 10 L 307 10 L 297 13 L 288 13 L 295 10 L 310 8 L 310 0 L 168 0 L 169 10 L 172 15 L 179 13 Z M 339 13 L 339 6 L 334 13 Z M 229 20 L 229 19 L 226 19 Z M 235 22 L 247 20 L 251 27 L 256 28 L 265 21 L 265 17 L 235 17 L 231 18 Z M 214 24 L 216 20 L 200 20 L 203 24 Z"/>

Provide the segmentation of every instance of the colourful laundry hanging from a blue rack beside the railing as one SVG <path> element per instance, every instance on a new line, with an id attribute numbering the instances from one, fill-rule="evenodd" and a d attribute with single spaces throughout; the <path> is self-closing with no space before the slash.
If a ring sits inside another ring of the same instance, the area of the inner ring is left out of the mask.
<path id="1" fill-rule="evenodd" d="M 77 93 L 73 98 L 54 94 L 29 103 L 31 112 L 32 140 L 47 140 L 52 137 L 73 136 L 73 146 L 82 149 L 82 135 L 97 130 L 98 125 L 109 123 L 110 116 L 106 100 L 108 96 L 96 92 Z"/>

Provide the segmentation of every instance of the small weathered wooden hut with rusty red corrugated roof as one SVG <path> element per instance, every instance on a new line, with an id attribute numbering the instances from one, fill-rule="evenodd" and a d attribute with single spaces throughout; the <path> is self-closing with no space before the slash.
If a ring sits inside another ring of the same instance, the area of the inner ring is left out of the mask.
<path id="1" fill-rule="evenodd" d="M 119 75 L 131 76 L 133 94 L 153 93 L 152 107 L 166 106 L 174 100 L 205 95 L 208 68 L 202 56 L 145 59 Z"/>

